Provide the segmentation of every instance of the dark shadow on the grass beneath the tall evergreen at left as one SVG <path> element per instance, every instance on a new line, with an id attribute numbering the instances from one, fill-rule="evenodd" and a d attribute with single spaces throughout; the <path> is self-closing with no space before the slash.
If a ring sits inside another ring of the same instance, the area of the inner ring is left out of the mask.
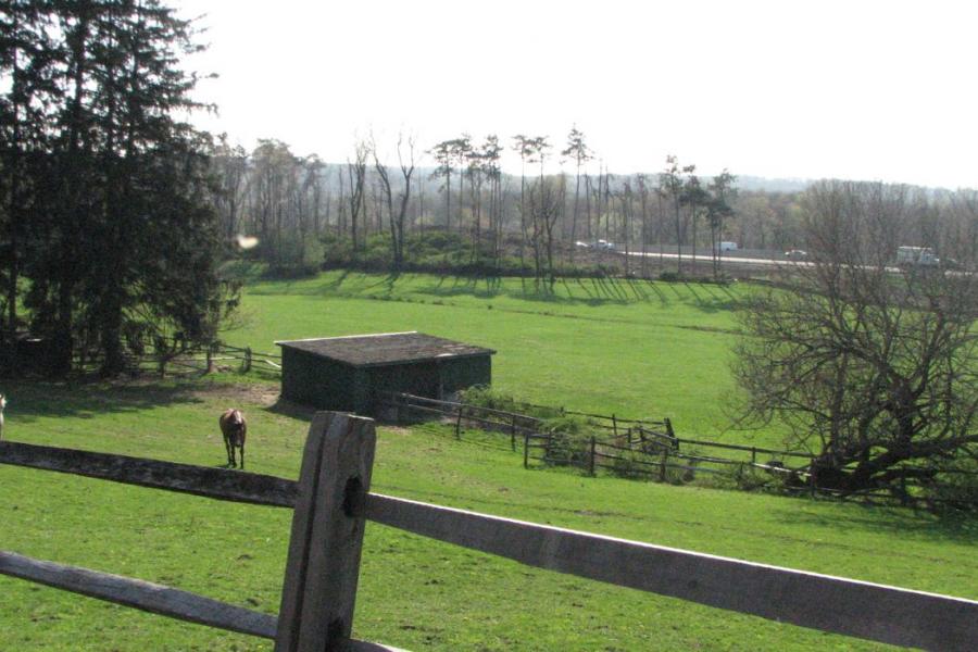
<path id="1" fill-rule="evenodd" d="M 23 423 L 48 416 L 92 418 L 101 414 L 203 402 L 195 396 L 192 386 L 165 380 L 126 385 L 84 380 L 3 380 L 0 387 L 10 401 L 5 411 L 8 421 Z"/>

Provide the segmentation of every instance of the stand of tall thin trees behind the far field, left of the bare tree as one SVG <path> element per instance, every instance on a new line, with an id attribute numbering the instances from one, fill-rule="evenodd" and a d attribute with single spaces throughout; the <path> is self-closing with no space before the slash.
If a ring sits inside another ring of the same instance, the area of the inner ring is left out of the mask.
<path id="1" fill-rule="evenodd" d="M 599 240 L 634 252 L 714 249 L 736 214 L 735 177 L 726 172 L 701 180 L 694 165 L 669 158 L 655 175 L 613 175 L 603 165 L 595 175 L 587 167 L 594 154 L 576 127 L 563 149 L 525 135 L 510 147 L 518 176 L 502 171 L 505 145 L 497 135 L 480 141 L 463 135 L 427 150 L 400 136 L 390 151 L 372 136 L 355 143 L 344 164 L 296 155 L 274 139 L 251 152 L 222 141 L 213 159 L 223 189 L 216 208 L 228 237 L 259 237 L 259 254 L 273 269 L 318 262 L 310 243 L 324 237 L 342 239 L 355 259 L 376 235 L 387 240 L 397 269 L 411 253 L 408 235 L 441 230 L 464 237 L 469 262 L 499 268 L 512 256 L 519 271 L 540 278 L 552 278 L 559 259 L 573 264 Z M 428 166 L 419 165 L 423 158 Z M 547 171 L 554 162 L 560 174 Z"/>

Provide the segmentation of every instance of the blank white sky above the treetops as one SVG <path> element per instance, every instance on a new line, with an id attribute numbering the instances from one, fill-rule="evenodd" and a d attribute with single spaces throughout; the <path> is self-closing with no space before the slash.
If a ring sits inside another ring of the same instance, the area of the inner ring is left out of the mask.
<path id="1" fill-rule="evenodd" d="M 978 3 L 173 0 L 216 73 L 198 116 L 339 162 L 356 134 L 549 135 L 613 172 L 978 186 Z M 556 149 L 556 148 L 555 148 Z M 510 168 L 514 170 L 514 159 Z"/>

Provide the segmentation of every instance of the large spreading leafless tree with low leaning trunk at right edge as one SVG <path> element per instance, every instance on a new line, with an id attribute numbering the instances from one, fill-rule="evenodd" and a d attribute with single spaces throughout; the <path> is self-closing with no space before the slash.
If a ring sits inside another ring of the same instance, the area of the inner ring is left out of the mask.
<path id="1" fill-rule="evenodd" d="M 813 450 L 822 487 L 905 497 L 978 460 L 976 261 L 893 266 L 931 202 L 902 186 L 814 186 L 811 261 L 741 306 L 747 414 Z"/>

